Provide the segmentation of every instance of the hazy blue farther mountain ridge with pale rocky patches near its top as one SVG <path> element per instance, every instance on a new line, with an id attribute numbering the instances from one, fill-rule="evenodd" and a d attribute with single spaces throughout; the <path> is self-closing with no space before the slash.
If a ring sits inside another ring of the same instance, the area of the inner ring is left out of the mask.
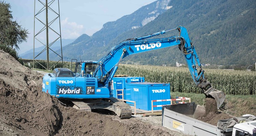
<path id="1" fill-rule="evenodd" d="M 148 22 L 154 20 L 170 8 L 168 7 L 169 1 L 170 0 L 155 1 L 141 7 L 130 15 L 123 16 L 116 21 L 105 23 L 103 28 L 94 33 L 91 37 L 85 37 L 83 40 L 80 40 L 80 42 L 63 48 L 63 59 L 65 59 L 65 61 L 70 61 L 71 58 L 77 58 L 80 60 L 81 56 L 82 60 L 98 60 L 103 56 L 103 51 L 107 51 L 114 46 L 109 44 L 110 41 L 127 31 L 132 32 L 133 30 L 146 26 Z M 127 35 L 123 38 L 126 37 L 130 36 Z M 82 38 L 79 37 L 79 39 Z M 118 41 L 118 43 L 119 42 L 120 41 Z M 102 47 L 107 48 L 103 49 Z"/>

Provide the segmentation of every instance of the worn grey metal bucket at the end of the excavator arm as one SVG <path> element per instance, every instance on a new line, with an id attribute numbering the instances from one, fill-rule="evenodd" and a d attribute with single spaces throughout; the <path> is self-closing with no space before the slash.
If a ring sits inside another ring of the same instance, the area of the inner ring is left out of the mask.
<path id="1" fill-rule="evenodd" d="M 219 109 L 219 107 L 223 104 L 223 102 L 226 99 L 226 95 L 223 91 L 219 91 L 217 89 L 212 88 L 210 91 L 208 91 L 207 93 L 205 93 L 205 95 L 207 96 L 211 96 L 216 100 L 217 103 L 217 108 Z"/>

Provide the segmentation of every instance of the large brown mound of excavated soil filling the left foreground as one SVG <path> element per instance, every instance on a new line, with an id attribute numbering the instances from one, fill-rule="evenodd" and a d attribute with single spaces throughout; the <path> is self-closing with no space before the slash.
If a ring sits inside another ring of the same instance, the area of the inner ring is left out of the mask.
<path id="1" fill-rule="evenodd" d="M 43 75 L 0 50 L 0 135 L 185 136 L 138 120 L 79 111 L 42 92 Z"/>

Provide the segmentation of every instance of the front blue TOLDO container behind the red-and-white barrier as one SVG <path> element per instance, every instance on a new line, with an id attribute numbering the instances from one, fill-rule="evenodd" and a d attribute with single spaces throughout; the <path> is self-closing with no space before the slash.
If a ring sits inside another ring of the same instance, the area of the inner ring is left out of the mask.
<path id="1" fill-rule="evenodd" d="M 135 101 L 136 108 L 151 110 L 151 100 L 170 99 L 170 83 L 126 83 L 126 100 Z M 133 103 L 127 102 L 133 106 Z M 154 102 L 154 105 L 171 104 L 170 101 Z M 154 110 L 161 110 L 162 107 L 154 107 Z"/>

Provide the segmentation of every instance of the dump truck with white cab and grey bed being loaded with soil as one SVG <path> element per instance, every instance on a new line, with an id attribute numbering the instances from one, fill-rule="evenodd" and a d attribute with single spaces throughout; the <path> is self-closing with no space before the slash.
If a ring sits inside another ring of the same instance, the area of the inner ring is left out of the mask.
<path id="1" fill-rule="evenodd" d="M 195 103 L 167 105 L 162 108 L 162 126 L 195 136 L 256 136 L 256 117 L 247 115 L 219 120 L 217 126 L 197 120 L 205 108 Z"/>

